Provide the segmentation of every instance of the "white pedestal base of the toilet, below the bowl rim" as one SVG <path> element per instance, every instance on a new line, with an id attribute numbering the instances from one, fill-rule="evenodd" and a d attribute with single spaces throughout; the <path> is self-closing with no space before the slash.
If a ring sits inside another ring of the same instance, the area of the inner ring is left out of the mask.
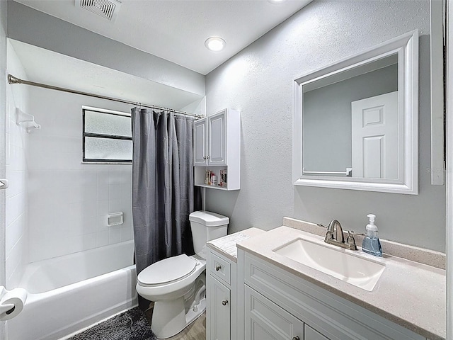
<path id="1" fill-rule="evenodd" d="M 185 313 L 184 297 L 154 302 L 151 331 L 157 339 L 167 339 L 188 327 L 206 310 L 206 298 Z"/>

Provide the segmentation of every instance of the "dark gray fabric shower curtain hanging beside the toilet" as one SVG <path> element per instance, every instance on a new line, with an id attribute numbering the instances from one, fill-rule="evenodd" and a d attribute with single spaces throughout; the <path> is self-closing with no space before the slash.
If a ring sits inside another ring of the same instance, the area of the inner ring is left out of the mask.
<path id="1" fill-rule="evenodd" d="M 193 254 L 193 118 L 132 108 L 132 217 L 137 274 Z M 140 301 L 143 307 L 143 300 Z"/>

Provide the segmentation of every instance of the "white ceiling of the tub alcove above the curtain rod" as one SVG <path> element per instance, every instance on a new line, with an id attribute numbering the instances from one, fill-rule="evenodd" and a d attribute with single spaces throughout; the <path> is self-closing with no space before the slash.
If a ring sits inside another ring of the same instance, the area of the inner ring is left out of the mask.
<path id="1" fill-rule="evenodd" d="M 25 42 L 12 39 L 9 41 L 30 81 L 176 109 L 200 101 L 201 98 L 188 91 L 45 50 Z M 55 67 L 55 65 L 64 65 L 64 67 Z"/>

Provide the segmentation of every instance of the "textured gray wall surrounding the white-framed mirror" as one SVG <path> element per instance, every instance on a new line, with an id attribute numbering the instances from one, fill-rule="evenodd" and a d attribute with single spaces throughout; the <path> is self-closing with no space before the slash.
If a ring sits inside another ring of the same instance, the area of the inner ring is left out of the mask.
<path id="1" fill-rule="evenodd" d="M 207 75 L 207 113 L 242 114 L 241 190 L 207 189 L 206 208 L 231 217 L 229 232 L 272 229 L 290 216 L 364 230 L 445 251 L 445 186 L 431 186 L 429 1 L 314 1 Z M 420 33 L 419 195 L 292 184 L 293 81 L 373 45 Z"/>

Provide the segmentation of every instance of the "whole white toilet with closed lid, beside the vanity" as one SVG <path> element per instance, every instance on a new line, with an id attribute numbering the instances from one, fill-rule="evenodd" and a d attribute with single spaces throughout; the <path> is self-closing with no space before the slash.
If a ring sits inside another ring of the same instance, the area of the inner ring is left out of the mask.
<path id="1" fill-rule="evenodd" d="M 178 334 L 206 309 L 206 242 L 226 235 L 229 218 L 208 211 L 189 215 L 195 255 L 158 261 L 137 277 L 137 293 L 154 301 L 151 330 L 158 339 Z"/>

